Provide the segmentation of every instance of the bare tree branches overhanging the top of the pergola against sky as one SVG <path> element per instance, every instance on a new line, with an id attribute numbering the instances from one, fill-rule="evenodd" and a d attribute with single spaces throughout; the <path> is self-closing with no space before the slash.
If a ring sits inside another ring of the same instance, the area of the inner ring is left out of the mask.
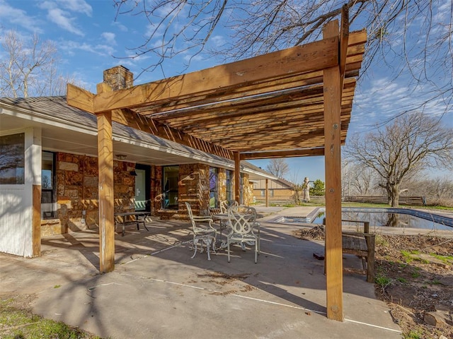
<path id="1" fill-rule="evenodd" d="M 177 54 L 190 52 L 194 57 L 210 52 L 231 61 L 310 42 L 321 36 L 324 24 L 338 18 L 344 6 L 350 26 L 367 29 L 367 58 L 362 69 L 379 63 L 395 77 L 410 76 L 412 90 L 425 90 L 428 85 L 425 101 L 415 109 L 442 100 L 445 112 L 451 107 L 451 1 L 114 0 L 114 4 L 117 17 L 144 16 L 149 21 L 144 41 L 130 47 L 135 52 L 132 58 L 142 54 L 156 57 L 143 71 L 163 69 L 164 61 Z M 224 32 L 229 37 L 219 42 Z"/>

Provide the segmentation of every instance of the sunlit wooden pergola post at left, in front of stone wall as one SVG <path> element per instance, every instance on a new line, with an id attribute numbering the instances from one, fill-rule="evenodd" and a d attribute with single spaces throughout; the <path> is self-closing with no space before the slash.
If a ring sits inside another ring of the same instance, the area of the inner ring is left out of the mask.
<path id="1" fill-rule="evenodd" d="M 98 119 L 99 181 L 99 270 L 115 269 L 115 222 L 113 210 L 112 113 L 96 114 Z"/>

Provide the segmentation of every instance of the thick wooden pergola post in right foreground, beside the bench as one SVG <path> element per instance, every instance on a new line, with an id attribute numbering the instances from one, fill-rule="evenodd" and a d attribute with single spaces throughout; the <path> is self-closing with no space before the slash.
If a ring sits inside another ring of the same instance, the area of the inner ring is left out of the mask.
<path id="1" fill-rule="evenodd" d="M 338 37 L 338 20 L 323 29 L 323 37 Z M 340 66 L 323 71 L 324 156 L 326 166 L 326 294 L 327 317 L 343 321 L 341 249 Z"/>

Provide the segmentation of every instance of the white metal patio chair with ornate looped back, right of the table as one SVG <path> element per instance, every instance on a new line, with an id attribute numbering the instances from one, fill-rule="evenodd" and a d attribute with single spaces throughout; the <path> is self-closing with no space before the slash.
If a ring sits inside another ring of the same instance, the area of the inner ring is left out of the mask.
<path id="1" fill-rule="evenodd" d="M 239 243 L 243 246 L 246 243 L 255 245 L 255 263 L 257 263 L 260 253 L 260 223 L 256 221 L 256 209 L 248 206 L 231 206 L 228 209 L 228 221 L 231 227 L 226 236 L 228 262 L 230 262 L 230 244 Z"/>

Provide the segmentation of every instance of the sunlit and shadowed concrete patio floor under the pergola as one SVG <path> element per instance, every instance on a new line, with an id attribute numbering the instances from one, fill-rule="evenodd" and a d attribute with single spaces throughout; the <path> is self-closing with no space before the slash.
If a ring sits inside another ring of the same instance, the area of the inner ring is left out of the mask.
<path id="1" fill-rule="evenodd" d="M 300 226 L 266 222 L 261 254 L 219 250 L 190 258 L 190 224 L 153 220 L 149 232 L 115 236 L 115 271 L 99 274 L 98 230 L 42 239 L 42 256 L 0 254 L 0 297 L 33 293 L 33 311 L 103 338 L 401 338 L 364 275 L 344 275 L 345 321 L 326 318 L 322 242 L 292 236 Z M 345 265 L 360 265 L 345 256 Z"/>

